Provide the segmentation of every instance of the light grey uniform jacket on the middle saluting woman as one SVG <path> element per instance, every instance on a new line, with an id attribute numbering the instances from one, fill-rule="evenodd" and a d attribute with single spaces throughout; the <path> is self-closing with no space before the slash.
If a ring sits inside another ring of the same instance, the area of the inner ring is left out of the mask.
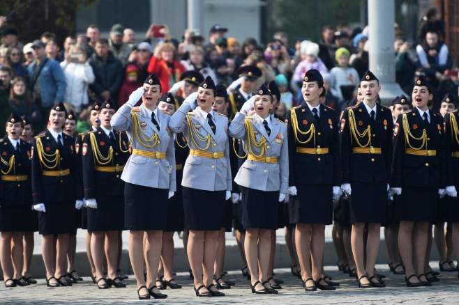
<path id="1" fill-rule="evenodd" d="M 202 118 L 200 111 L 190 111 L 190 105 L 182 104 L 169 120 L 169 127 L 172 132 L 183 132 L 190 150 L 200 150 L 206 154 L 223 153 L 223 157 L 214 159 L 212 157 L 200 157 L 188 155 L 183 167 L 183 178 L 181 185 L 204 191 L 231 191 L 231 167 L 230 167 L 230 146 L 228 144 L 228 118 L 213 112 L 216 120 L 216 134 L 213 134 L 206 118 Z M 190 130 L 187 117 L 193 123 Z M 195 132 L 197 134 L 195 134 Z M 207 141 L 200 141 L 211 135 L 209 147 Z M 199 146 L 199 147 L 198 147 Z M 200 149 L 201 148 L 201 149 Z"/>

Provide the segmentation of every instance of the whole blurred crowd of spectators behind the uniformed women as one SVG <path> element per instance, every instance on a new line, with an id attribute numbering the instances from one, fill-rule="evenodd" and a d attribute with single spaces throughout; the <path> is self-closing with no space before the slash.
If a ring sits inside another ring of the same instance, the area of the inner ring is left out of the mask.
<path id="1" fill-rule="evenodd" d="M 294 49 L 282 31 L 262 45 L 255 38 L 229 37 L 230 30 L 220 24 L 212 26 L 207 38 L 186 29 L 180 39 L 170 35 L 166 24 L 151 24 L 137 44 L 135 31 L 121 24 L 112 26 L 108 38 L 91 24 L 85 35 L 60 38 L 62 46 L 50 31 L 23 45 L 17 30 L 4 21 L 0 17 L 0 120 L 17 109 L 29 116 L 37 132 L 45 127 L 47 112 L 58 100 L 80 116 L 96 100 L 111 98 L 121 106 L 151 72 L 166 92 L 190 70 L 230 86 L 243 65 L 262 71 L 257 85 L 276 81 L 280 114 L 302 101 L 301 79 L 309 69 L 324 75 L 325 102 L 341 110 L 356 95 L 359 79 L 368 69 L 372 40 L 367 28 L 352 29 L 347 22 L 323 26 L 319 41 L 299 40 Z M 414 78 L 426 75 L 438 106 L 439 97 L 457 92 L 458 87 L 458 68 L 444 44 L 442 16 L 436 8 L 429 9 L 419 22 L 416 40 L 405 38 L 398 24 L 394 26 L 397 83 L 409 93 Z"/>

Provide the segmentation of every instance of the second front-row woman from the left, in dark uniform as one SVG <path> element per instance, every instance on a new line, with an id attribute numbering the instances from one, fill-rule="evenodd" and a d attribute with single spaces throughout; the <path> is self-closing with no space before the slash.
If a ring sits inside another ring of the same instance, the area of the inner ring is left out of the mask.
<path id="1" fill-rule="evenodd" d="M 69 233 L 75 230 L 74 222 L 69 219 L 73 219 L 73 209 L 83 205 L 81 172 L 80 166 L 77 166 L 75 139 L 62 132 L 66 121 L 66 108 L 62 102 L 54 104 L 49 120 L 48 129 L 33 139 L 33 208 L 39 211 L 39 233 L 42 235 L 41 249 L 47 286 L 71 286 L 65 279 L 65 263 Z M 57 235 L 55 265 L 54 235 Z"/>

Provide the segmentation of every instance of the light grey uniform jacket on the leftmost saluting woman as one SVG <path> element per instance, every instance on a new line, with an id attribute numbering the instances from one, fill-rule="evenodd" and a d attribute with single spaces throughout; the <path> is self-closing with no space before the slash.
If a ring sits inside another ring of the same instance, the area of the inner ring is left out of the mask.
<path id="1" fill-rule="evenodd" d="M 135 133 L 133 113 L 137 114 L 139 118 L 137 135 Z M 133 153 L 133 155 L 130 155 L 128 162 L 126 162 L 121 175 L 123 181 L 144 187 L 176 191 L 174 134 L 167 127 L 170 117 L 170 114 L 158 109 L 158 117 L 156 118 L 160 125 L 160 131 L 158 132 L 156 126 L 151 123 L 151 117 L 148 116 L 143 104 L 134 108 L 131 108 L 128 104 L 123 104 L 114 114 L 110 122 L 112 127 L 120 132 L 126 131 L 133 150 L 144 150 L 151 155 L 154 155 L 157 151 L 166 153 L 165 159 L 144 157 Z M 140 139 L 147 145 L 152 145 L 154 141 L 147 142 L 144 138 L 149 140 L 154 134 L 158 134 L 158 143 L 151 148 L 144 146 L 139 141 Z"/>

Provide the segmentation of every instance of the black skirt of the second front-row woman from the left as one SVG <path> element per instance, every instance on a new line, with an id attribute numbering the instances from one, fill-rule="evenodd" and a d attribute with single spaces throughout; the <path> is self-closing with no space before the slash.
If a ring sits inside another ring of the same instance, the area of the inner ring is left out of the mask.
<path id="1" fill-rule="evenodd" d="M 38 212 L 38 232 L 41 235 L 70 234 L 75 231 L 75 201 L 45 203 L 46 212 Z"/>

